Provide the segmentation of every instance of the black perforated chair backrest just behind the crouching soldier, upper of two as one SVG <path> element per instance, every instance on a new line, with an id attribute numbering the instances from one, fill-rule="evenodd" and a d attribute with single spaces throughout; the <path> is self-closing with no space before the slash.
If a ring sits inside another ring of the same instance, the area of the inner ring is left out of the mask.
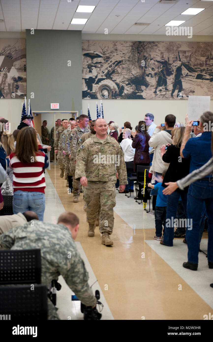
<path id="1" fill-rule="evenodd" d="M 0 285 L 6 284 L 41 284 L 41 250 L 0 250 Z"/>

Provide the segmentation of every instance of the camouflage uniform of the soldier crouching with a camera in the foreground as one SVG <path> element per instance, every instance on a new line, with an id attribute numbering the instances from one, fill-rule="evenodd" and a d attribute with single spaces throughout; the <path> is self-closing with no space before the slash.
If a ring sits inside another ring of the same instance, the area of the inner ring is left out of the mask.
<path id="1" fill-rule="evenodd" d="M 5 249 L 41 249 L 41 284 L 48 288 L 53 279 L 62 275 L 83 304 L 95 305 L 88 272 L 71 232 L 63 224 L 34 220 L 34 226 L 28 222 L 0 235 L 0 245 Z M 48 311 L 48 319 L 59 319 L 49 299 Z"/>

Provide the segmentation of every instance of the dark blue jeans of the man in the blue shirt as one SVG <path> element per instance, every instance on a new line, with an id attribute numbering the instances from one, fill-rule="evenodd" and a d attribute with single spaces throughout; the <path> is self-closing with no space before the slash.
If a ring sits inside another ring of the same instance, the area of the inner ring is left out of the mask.
<path id="1" fill-rule="evenodd" d="M 213 182 L 199 180 L 189 186 L 187 215 L 192 229 L 187 232 L 188 261 L 197 264 L 200 242 L 200 218 L 205 202 L 208 216 L 208 261 L 213 262 Z"/>

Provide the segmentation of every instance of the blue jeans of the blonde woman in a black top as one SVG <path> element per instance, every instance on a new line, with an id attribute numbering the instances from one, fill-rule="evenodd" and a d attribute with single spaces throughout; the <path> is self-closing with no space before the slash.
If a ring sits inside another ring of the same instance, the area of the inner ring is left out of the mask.
<path id="1" fill-rule="evenodd" d="M 176 218 L 179 197 L 180 197 L 180 193 L 177 190 L 174 191 L 171 195 L 167 195 L 167 217 L 166 217 L 166 224 L 165 224 L 165 232 L 163 234 L 163 244 L 166 246 L 170 246 L 170 247 L 173 246 L 174 220 Z M 181 199 L 182 199 L 184 212 L 187 218 L 187 214 L 186 214 L 187 193 L 185 192 L 181 193 Z M 184 221 L 181 221 L 181 222 L 184 222 Z"/>

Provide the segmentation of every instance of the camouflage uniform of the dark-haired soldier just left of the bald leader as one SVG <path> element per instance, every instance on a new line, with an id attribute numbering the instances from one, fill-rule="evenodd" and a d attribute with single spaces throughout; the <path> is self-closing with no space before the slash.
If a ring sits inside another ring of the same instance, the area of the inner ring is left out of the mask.
<path id="1" fill-rule="evenodd" d="M 70 172 L 72 173 L 72 193 L 74 196 L 80 194 L 80 188 L 81 183 L 79 181 L 75 180 L 75 170 L 76 170 L 76 154 L 77 154 L 77 145 L 80 137 L 84 133 L 89 133 L 89 128 L 84 128 L 84 131 L 80 129 L 80 127 L 74 128 L 72 131 L 69 132 L 69 134 L 66 136 L 66 142 L 65 142 L 65 152 L 68 155 L 71 155 L 70 157 Z"/>

